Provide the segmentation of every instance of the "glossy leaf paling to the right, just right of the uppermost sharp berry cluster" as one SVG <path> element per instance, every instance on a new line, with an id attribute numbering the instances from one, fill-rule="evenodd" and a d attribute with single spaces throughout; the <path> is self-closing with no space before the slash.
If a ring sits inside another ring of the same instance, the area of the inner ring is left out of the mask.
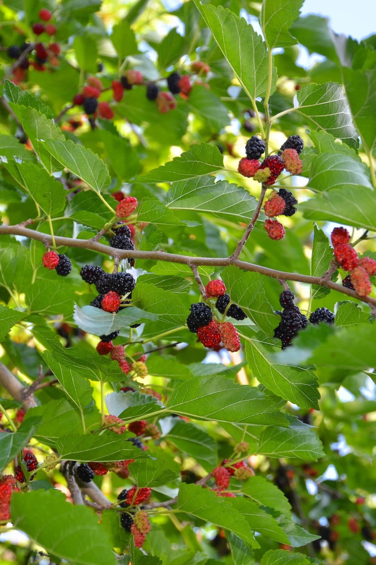
<path id="1" fill-rule="evenodd" d="M 338 186 L 361 184 L 371 187 L 369 170 L 365 163 L 343 153 L 325 151 L 317 155 L 311 167 L 308 188 L 323 192 Z"/>

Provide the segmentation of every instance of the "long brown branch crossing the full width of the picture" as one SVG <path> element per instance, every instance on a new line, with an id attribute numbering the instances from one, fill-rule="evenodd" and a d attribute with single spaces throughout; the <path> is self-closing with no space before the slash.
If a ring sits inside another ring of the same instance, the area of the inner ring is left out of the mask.
<path id="1" fill-rule="evenodd" d="M 51 236 L 46 235 L 42 232 L 36 232 L 33 229 L 24 228 L 21 225 L 0 225 L 0 235 L 1 234 L 13 234 L 19 236 L 25 236 L 33 240 L 42 241 L 46 245 L 51 245 Z M 346 294 L 351 298 L 356 298 L 365 302 L 370 307 L 374 307 L 376 310 L 376 299 L 369 296 L 362 298 L 358 296 L 355 290 L 346 288 L 337 282 L 331 280 L 325 280 L 325 276 L 315 277 L 311 275 L 300 275 L 299 273 L 289 273 L 284 271 L 277 271 L 275 269 L 270 269 L 268 267 L 263 267 L 261 265 L 256 265 L 254 263 L 247 263 L 239 259 L 233 259 L 233 257 L 189 257 L 189 255 L 178 255 L 174 253 L 166 253 L 165 251 L 135 251 L 135 250 L 122 250 L 115 249 L 108 245 L 100 244 L 99 242 L 93 240 L 78 240 L 72 239 L 70 237 L 59 237 L 55 236 L 56 245 L 67 246 L 67 247 L 80 247 L 81 249 L 90 249 L 91 251 L 96 251 L 96 253 L 102 253 L 104 255 L 118 255 L 121 259 L 129 259 L 129 257 L 134 257 L 135 259 L 151 259 L 154 261 L 169 261 L 170 263 L 180 263 L 183 265 L 193 265 L 193 266 L 211 266 L 211 267 L 228 267 L 229 265 L 234 265 L 242 269 L 243 271 L 253 271 L 260 273 L 260 275 L 265 275 L 268 277 L 273 277 L 273 279 L 282 281 L 298 281 L 306 282 L 307 284 L 317 284 L 321 286 L 326 286 L 331 290 L 337 290 L 342 294 Z"/>

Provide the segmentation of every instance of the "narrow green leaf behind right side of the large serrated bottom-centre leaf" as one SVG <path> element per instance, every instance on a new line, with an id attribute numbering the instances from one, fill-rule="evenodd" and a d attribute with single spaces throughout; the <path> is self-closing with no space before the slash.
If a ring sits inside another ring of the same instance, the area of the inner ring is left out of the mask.
<path id="1" fill-rule="evenodd" d="M 249 498 L 236 497 L 230 499 L 232 507 L 247 520 L 253 531 L 260 532 L 272 540 L 281 544 L 287 544 L 289 539 L 282 530 L 278 522 L 266 511 L 260 509 L 258 505 Z"/>

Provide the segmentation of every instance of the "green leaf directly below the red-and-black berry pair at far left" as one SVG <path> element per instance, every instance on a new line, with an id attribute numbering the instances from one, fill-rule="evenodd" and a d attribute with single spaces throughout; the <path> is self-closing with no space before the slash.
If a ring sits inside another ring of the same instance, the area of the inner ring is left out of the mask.
<path id="1" fill-rule="evenodd" d="M 65 282 L 37 279 L 25 290 L 30 314 L 72 314 L 75 293 Z"/>

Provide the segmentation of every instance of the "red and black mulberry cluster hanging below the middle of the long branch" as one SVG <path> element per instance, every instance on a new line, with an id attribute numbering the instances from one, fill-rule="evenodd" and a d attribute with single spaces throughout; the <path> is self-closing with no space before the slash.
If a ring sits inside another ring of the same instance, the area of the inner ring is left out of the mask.
<path id="1" fill-rule="evenodd" d="M 230 304 L 229 294 L 221 280 L 208 282 L 205 287 L 207 299 L 216 298 L 215 306 L 220 314 L 226 314 L 236 320 L 244 320 L 247 316 L 236 304 Z M 229 322 L 219 322 L 213 318 L 211 306 L 205 302 L 197 302 L 189 308 L 191 314 L 187 318 L 190 332 L 197 333 L 198 340 L 209 349 L 219 351 L 220 343 L 227 351 L 240 349 L 240 338 L 235 326 Z"/>

